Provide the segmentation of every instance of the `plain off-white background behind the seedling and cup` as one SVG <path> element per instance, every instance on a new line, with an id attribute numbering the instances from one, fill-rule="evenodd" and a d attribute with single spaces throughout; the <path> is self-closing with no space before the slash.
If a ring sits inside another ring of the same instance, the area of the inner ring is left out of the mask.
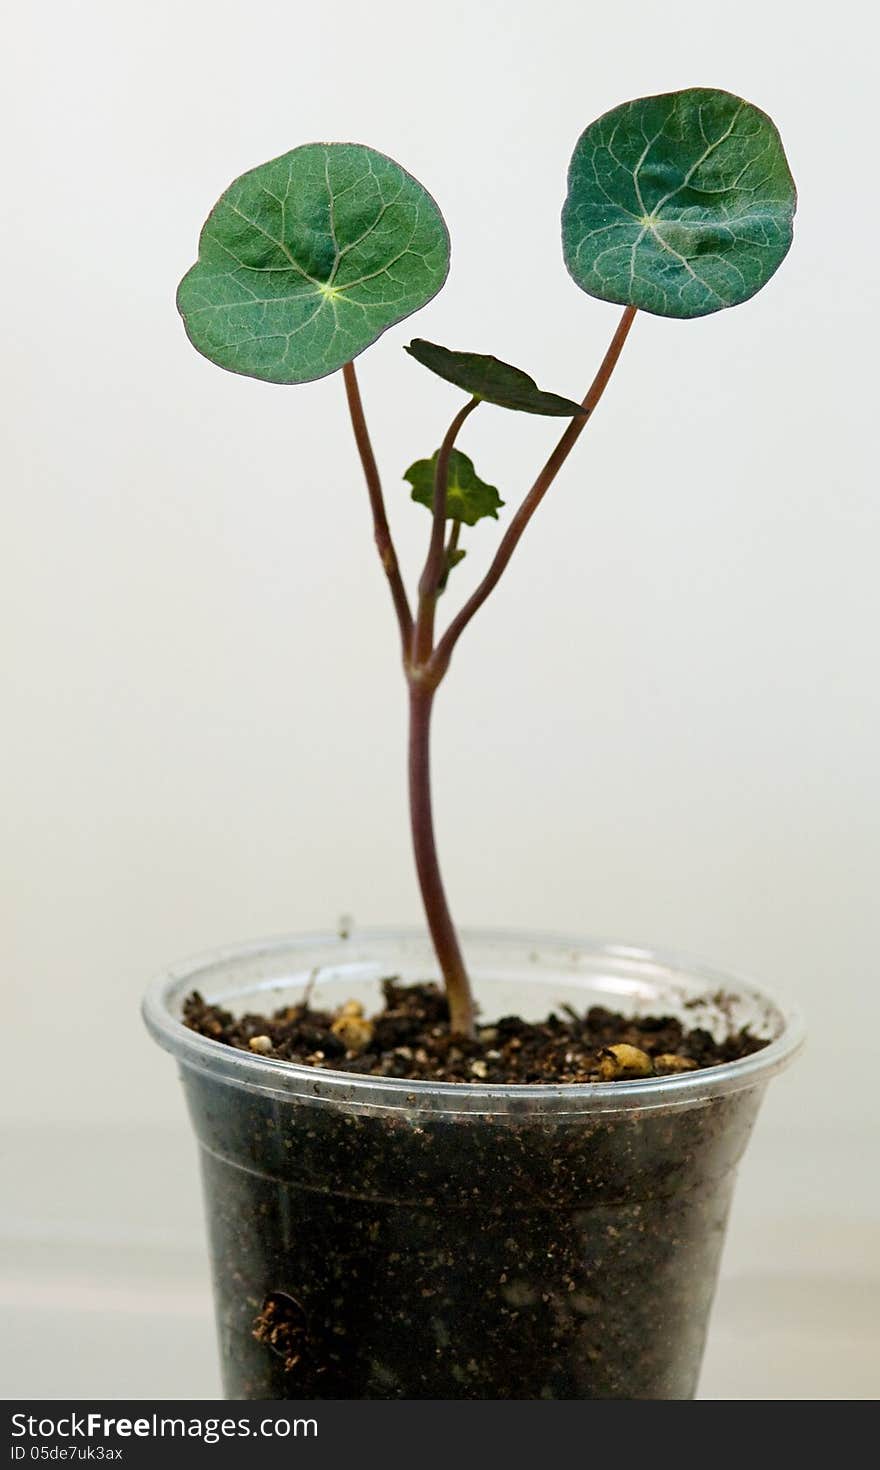
<path id="1" fill-rule="evenodd" d="M 580 397 L 617 310 L 563 268 L 574 140 L 708 84 L 777 121 L 795 247 L 737 310 L 636 320 L 441 691 L 439 836 L 461 922 L 693 951 L 798 998 L 811 1045 L 743 1169 L 704 1394 L 873 1395 L 873 7 L 87 0 L 19 7 L 7 43 L 9 1392 L 216 1392 L 194 1151 L 145 980 L 341 913 L 419 917 L 341 379 L 269 387 L 188 347 L 173 291 L 204 215 L 316 138 L 391 153 L 439 201 L 450 282 L 361 363 L 413 573 L 428 516 L 400 475 L 458 398 L 403 343 Z M 469 425 L 508 514 L 554 432 Z M 495 535 L 469 538 L 461 591 Z"/>

